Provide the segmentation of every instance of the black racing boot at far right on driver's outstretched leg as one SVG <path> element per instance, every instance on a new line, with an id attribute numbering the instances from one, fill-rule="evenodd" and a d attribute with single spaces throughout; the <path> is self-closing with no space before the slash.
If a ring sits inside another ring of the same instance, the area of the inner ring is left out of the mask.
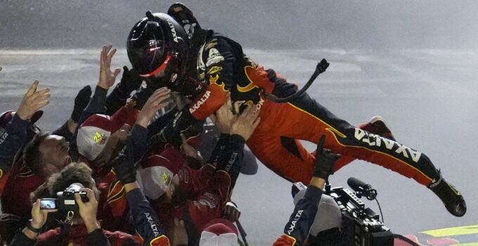
<path id="1" fill-rule="evenodd" d="M 427 188 L 438 195 L 450 214 L 457 217 L 465 215 L 466 203 L 463 199 L 463 195 L 461 195 L 460 191 L 457 190 L 453 184 L 449 183 L 443 178 L 443 176 L 441 176 L 440 170 L 438 170 L 438 178 L 434 179 Z"/>

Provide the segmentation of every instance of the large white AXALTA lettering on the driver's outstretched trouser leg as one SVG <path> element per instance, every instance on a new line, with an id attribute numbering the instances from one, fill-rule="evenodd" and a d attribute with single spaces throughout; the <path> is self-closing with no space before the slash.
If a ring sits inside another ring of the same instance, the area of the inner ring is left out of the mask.
<path id="1" fill-rule="evenodd" d="M 395 151 L 397 154 L 403 155 L 403 157 L 406 157 L 408 159 L 411 158 L 413 162 L 418 162 L 420 160 L 420 156 L 422 153 L 412 150 L 411 148 L 408 148 L 405 145 L 401 145 L 400 143 L 396 143 L 395 141 L 392 141 L 387 138 L 383 138 L 381 136 L 377 136 L 375 134 L 370 134 L 366 131 L 363 131 L 362 129 L 355 129 L 355 138 L 359 141 L 362 141 L 363 143 L 367 143 L 370 146 L 377 146 L 380 147 L 383 144 L 385 144 L 385 148 L 389 150 Z"/>

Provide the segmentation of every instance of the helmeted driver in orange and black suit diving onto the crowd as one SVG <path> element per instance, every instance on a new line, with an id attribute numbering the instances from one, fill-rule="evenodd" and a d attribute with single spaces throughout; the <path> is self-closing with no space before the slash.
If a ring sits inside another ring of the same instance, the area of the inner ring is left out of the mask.
<path id="1" fill-rule="evenodd" d="M 317 143 L 325 135 L 324 148 L 342 155 L 336 170 L 354 159 L 380 164 L 430 188 L 454 216 L 466 212 L 463 195 L 424 153 L 352 126 L 307 93 L 285 103 L 269 100 L 264 94 L 285 98 L 296 93 L 297 86 L 247 58 L 237 42 L 203 30 L 183 4 L 173 4 L 168 14 L 148 11 L 129 33 L 127 53 L 146 80 L 193 98 L 155 141 L 180 143 L 179 135 L 191 134 L 190 126 L 214 113 L 230 93 L 233 110 L 246 104 L 261 108 L 261 124 L 247 145 L 283 178 L 310 181 L 314 155 L 299 140 Z"/>

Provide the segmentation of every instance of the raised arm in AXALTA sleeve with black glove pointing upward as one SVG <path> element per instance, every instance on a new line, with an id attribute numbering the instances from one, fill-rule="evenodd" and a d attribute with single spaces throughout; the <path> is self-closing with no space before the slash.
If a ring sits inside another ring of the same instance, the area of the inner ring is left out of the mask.
<path id="1" fill-rule="evenodd" d="M 284 234 L 274 242 L 274 246 L 304 245 L 310 228 L 316 218 L 318 202 L 321 200 L 325 181 L 333 174 L 334 164 L 340 155 L 323 149 L 325 136 L 317 143 L 314 176 L 309 183 L 304 198 L 297 202 L 294 212 L 285 224 Z"/>

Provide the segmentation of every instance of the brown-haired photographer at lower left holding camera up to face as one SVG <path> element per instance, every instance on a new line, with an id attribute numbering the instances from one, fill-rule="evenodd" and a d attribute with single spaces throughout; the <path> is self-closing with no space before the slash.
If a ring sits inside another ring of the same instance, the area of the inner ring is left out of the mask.
<path id="1" fill-rule="evenodd" d="M 81 186 L 85 188 L 80 189 Z M 74 195 L 65 195 L 67 189 L 74 190 Z M 58 196 L 59 191 L 63 191 L 63 195 Z M 86 193 L 83 195 L 86 198 L 79 195 L 80 191 Z M 15 233 L 10 245 L 138 245 L 138 238 L 132 235 L 101 229 L 96 220 L 98 195 L 91 169 L 84 163 L 68 164 L 32 193 L 32 200 L 36 200 L 32 208 L 32 220 L 27 227 Z M 77 209 L 63 210 L 60 205 L 58 209 L 40 209 L 41 198 L 56 198 L 57 205 L 61 199 L 75 200 Z M 39 235 L 47 217 L 50 217 L 47 216 L 49 213 L 54 213 L 55 219 L 63 221 L 63 224 Z"/>

